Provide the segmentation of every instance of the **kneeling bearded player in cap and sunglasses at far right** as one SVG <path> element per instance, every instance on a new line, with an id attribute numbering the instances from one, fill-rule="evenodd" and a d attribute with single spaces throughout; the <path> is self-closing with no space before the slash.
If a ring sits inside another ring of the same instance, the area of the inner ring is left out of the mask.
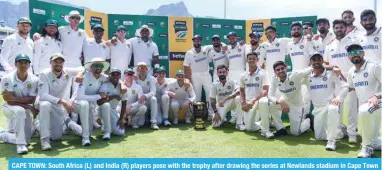
<path id="1" fill-rule="evenodd" d="M 365 52 L 358 44 L 347 48 L 349 60 L 348 84 L 354 88 L 359 101 L 359 121 L 362 129 L 362 148 L 359 158 L 369 158 L 374 150 L 381 150 L 381 63 L 365 60 Z"/>

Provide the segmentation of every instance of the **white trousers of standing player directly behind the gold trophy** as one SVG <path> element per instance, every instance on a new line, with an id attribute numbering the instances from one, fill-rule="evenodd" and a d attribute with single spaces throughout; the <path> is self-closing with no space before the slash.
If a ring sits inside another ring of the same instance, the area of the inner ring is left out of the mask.
<path id="1" fill-rule="evenodd" d="M 212 84 L 212 77 L 209 72 L 201 72 L 201 73 L 192 73 L 191 76 L 192 79 L 192 86 L 195 91 L 196 95 L 196 101 L 202 100 L 202 89 L 204 89 L 204 92 L 206 94 L 206 101 L 208 102 L 209 106 L 211 106 L 210 101 L 210 91 L 211 91 L 211 84 Z M 208 115 L 213 116 L 213 110 L 212 107 L 208 108 Z"/>

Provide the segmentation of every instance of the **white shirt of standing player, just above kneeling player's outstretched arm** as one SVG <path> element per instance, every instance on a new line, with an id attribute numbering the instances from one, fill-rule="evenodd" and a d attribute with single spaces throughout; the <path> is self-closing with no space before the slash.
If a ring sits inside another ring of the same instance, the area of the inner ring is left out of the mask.
<path id="1" fill-rule="evenodd" d="M 292 61 L 293 70 L 307 68 L 310 63 L 310 56 L 313 55 L 313 43 L 302 37 L 298 42 L 288 42 L 287 54 Z"/>

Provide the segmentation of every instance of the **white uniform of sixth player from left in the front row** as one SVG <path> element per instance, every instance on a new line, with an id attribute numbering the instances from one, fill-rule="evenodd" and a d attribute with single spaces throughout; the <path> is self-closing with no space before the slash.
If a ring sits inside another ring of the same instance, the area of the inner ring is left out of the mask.
<path id="1" fill-rule="evenodd" d="M 157 115 L 158 115 L 158 100 L 155 97 L 156 95 L 156 79 L 153 76 L 149 76 L 147 74 L 146 78 L 144 80 L 140 80 L 139 76 L 137 76 L 137 79 L 135 80 L 138 85 L 142 87 L 143 95 L 146 97 L 145 105 L 147 108 L 150 108 L 150 122 L 152 124 L 157 123 Z M 142 115 L 139 118 L 138 124 L 144 124 L 146 117 L 148 117 L 148 114 Z M 149 120 L 149 119 L 147 119 Z"/>

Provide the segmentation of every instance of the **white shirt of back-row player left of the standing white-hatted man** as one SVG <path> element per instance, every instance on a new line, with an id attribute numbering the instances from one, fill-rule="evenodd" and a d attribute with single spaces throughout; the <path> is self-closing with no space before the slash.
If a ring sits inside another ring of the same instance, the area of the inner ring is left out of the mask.
<path id="1" fill-rule="evenodd" d="M 129 68 L 132 46 L 128 41 L 122 42 L 117 39 L 115 45 L 110 46 L 110 68 L 117 68 L 122 72 Z"/>

